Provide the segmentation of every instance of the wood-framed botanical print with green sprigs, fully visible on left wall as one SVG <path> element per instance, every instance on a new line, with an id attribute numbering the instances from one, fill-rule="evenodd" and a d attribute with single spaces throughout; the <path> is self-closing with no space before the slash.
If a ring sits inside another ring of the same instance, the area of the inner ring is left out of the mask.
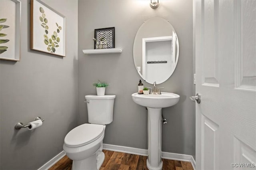
<path id="1" fill-rule="evenodd" d="M 30 49 L 66 56 L 66 18 L 40 0 L 30 3 Z"/>

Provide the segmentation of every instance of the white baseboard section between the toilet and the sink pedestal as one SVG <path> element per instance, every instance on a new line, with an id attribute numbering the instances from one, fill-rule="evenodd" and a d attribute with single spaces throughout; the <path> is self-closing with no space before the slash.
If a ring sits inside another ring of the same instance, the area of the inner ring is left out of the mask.
<path id="1" fill-rule="evenodd" d="M 116 152 L 124 152 L 128 154 L 148 156 L 147 149 L 131 148 L 127 146 L 118 146 L 118 145 L 112 145 L 112 144 L 103 144 L 103 149 L 116 151 Z"/>

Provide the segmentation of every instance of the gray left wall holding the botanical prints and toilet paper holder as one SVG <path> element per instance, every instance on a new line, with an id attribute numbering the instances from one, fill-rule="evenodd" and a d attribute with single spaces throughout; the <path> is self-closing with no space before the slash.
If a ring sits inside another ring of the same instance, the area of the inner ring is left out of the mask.
<path id="1" fill-rule="evenodd" d="M 21 60 L 0 61 L 1 170 L 38 169 L 62 151 L 64 137 L 77 125 L 78 1 L 44 0 L 66 16 L 66 57 L 29 49 L 28 0 L 21 0 Z M 35 130 L 15 130 L 37 116 Z"/>

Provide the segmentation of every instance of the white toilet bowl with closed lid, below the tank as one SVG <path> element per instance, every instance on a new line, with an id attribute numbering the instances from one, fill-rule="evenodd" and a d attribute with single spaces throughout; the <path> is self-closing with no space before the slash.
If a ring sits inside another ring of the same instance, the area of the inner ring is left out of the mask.
<path id="1" fill-rule="evenodd" d="M 105 127 L 105 125 L 86 123 L 74 128 L 66 135 L 63 149 L 73 160 L 72 170 L 100 168 L 105 158 L 102 152 Z"/>

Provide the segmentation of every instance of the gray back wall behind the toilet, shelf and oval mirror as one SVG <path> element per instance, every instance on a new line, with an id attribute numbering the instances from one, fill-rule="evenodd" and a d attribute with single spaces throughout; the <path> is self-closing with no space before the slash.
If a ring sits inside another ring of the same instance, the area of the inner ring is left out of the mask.
<path id="1" fill-rule="evenodd" d="M 178 35 L 180 55 L 173 75 L 158 87 L 177 93 L 177 105 L 164 108 L 168 124 L 163 126 L 162 150 L 195 156 L 195 108 L 189 100 L 193 92 L 193 15 L 191 0 L 160 1 L 152 9 L 144 0 L 78 1 L 78 124 L 87 123 L 84 95 L 96 94 L 92 86 L 98 79 L 110 83 L 106 94 L 116 95 L 114 120 L 107 125 L 104 143 L 147 148 L 147 111 L 132 101 L 138 90 L 138 75 L 133 63 L 133 42 L 140 25 L 154 16 L 170 21 Z M 86 55 L 93 49 L 94 29 L 115 27 L 115 46 L 122 53 Z M 157 31 L 157 30 L 152 30 Z M 152 86 L 143 81 L 144 86 Z"/>

